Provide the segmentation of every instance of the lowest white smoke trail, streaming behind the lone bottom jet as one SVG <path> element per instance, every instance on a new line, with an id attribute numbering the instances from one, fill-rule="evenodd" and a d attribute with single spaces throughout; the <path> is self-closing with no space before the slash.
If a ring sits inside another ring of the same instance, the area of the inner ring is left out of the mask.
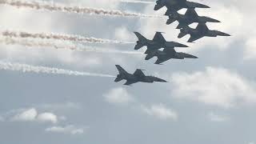
<path id="1" fill-rule="evenodd" d="M 26 64 L 1 62 L 1 61 L 0 61 L 0 70 L 22 71 L 23 73 L 33 72 L 38 74 L 64 74 L 64 75 L 73 75 L 73 76 L 94 76 L 94 77 L 106 77 L 106 78 L 115 77 L 109 74 L 94 74 L 94 73 L 79 72 L 79 71 L 73 71 L 73 70 L 58 69 L 53 67 L 30 66 Z"/>

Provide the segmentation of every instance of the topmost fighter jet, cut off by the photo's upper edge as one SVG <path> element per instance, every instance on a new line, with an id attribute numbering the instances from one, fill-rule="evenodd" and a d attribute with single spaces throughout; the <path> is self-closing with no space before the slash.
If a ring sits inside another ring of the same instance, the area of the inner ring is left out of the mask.
<path id="1" fill-rule="evenodd" d="M 178 11 L 183 8 L 210 8 L 198 2 L 189 2 L 186 0 L 158 0 L 154 6 L 154 10 L 160 10 L 163 6 L 166 6 L 167 13 L 170 11 Z"/>

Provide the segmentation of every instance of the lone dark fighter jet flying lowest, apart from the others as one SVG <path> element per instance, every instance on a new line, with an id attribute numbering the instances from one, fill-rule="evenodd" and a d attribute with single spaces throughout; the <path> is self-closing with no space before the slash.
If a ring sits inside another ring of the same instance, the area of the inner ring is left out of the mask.
<path id="1" fill-rule="evenodd" d="M 134 72 L 134 74 L 129 74 L 121 66 L 116 65 L 116 67 L 118 69 L 119 74 L 117 78 L 114 80 L 114 82 L 120 82 L 123 79 L 125 79 L 126 83 L 124 85 L 126 86 L 130 86 L 131 84 L 134 84 L 136 82 L 147 82 L 147 83 L 166 82 L 166 80 L 163 80 L 161 78 L 157 78 L 154 76 L 146 76 L 145 74 L 143 74 L 142 70 L 140 69 L 137 69 Z"/>

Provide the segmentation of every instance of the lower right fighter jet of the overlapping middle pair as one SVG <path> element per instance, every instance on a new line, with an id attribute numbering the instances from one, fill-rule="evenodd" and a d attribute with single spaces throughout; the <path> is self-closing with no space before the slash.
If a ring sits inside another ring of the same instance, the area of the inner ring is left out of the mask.
<path id="1" fill-rule="evenodd" d="M 176 52 L 174 49 L 164 49 L 164 50 L 157 50 L 153 53 L 147 54 L 145 60 L 150 60 L 150 58 L 158 57 L 158 60 L 154 62 L 154 64 L 160 65 L 162 62 L 166 62 L 173 59 L 185 59 L 185 58 L 198 58 L 191 54 Z"/>

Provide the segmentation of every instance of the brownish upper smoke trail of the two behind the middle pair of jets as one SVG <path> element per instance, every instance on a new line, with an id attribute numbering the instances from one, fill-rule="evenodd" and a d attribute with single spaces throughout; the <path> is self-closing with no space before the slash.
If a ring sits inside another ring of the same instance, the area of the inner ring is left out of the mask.
<path id="1" fill-rule="evenodd" d="M 102 38 L 86 38 L 80 35 L 71 34 L 54 34 L 54 33 L 29 33 L 25 31 L 3 30 L 0 34 L 11 38 L 44 38 L 44 39 L 57 39 L 63 41 L 73 42 L 89 42 L 89 43 L 116 43 L 116 44 L 128 44 L 133 42 L 121 42 Z"/>

